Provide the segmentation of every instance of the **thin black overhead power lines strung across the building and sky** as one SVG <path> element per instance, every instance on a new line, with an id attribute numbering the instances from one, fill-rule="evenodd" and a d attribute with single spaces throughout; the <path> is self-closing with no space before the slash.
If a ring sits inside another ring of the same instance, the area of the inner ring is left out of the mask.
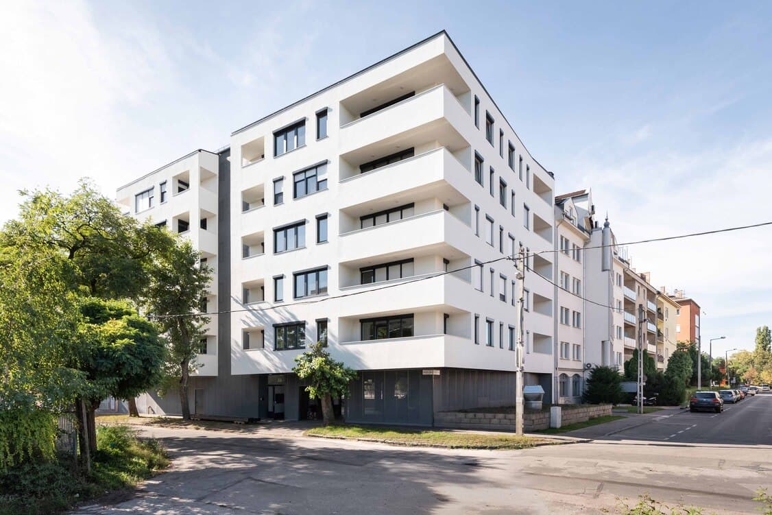
<path id="1" fill-rule="evenodd" d="M 631 246 L 631 245 L 640 245 L 640 244 L 643 244 L 643 243 L 665 242 L 665 241 L 669 241 L 669 240 L 673 240 L 673 239 L 684 239 L 684 238 L 692 238 L 692 237 L 695 237 L 695 236 L 705 236 L 705 235 L 719 234 L 721 232 L 733 232 L 733 231 L 740 231 L 740 230 L 743 230 L 743 229 L 754 229 L 754 228 L 757 228 L 757 227 L 764 227 L 766 225 L 772 225 L 772 222 L 760 222 L 760 223 L 751 224 L 751 225 L 737 225 L 735 227 L 727 227 L 727 228 L 724 228 L 724 229 L 713 229 L 713 230 L 710 230 L 710 231 L 703 231 L 703 232 L 690 232 L 688 234 L 674 235 L 674 236 L 662 236 L 660 238 L 639 239 L 639 240 L 633 241 L 633 242 L 615 243 L 615 244 L 609 244 L 609 245 L 606 245 L 606 246 L 604 246 L 604 245 L 589 246 L 589 247 L 583 247 L 582 250 L 587 250 L 587 249 L 603 249 L 604 247 L 607 247 L 607 246 Z M 541 250 L 539 252 L 530 252 L 530 253 L 526 254 L 525 256 L 523 256 L 523 258 L 524 259 L 528 259 L 528 258 L 530 258 L 532 256 L 537 256 L 537 255 L 546 254 L 546 253 L 550 253 L 550 252 L 560 252 L 560 249 L 549 249 L 549 250 Z M 490 259 L 489 261 L 486 261 L 484 263 L 474 263 L 474 264 L 469 265 L 469 266 L 462 266 L 459 269 L 445 270 L 445 271 L 442 271 L 442 272 L 430 273 L 430 274 L 427 274 L 425 276 L 417 277 L 417 278 L 415 278 L 413 280 L 402 281 L 401 283 L 385 284 L 383 286 L 377 286 L 375 288 L 369 288 L 367 290 L 361 290 L 361 291 L 350 292 L 350 293 L 341 293 L 340 295 L 334 295 L 334 296 L 317 297 L 317 298 L 310 299 L 310 300 L 298 300 L 296 302 L 281 303 L 281 304 L 277 304 L 277 305 L 274 305 L 274 306 L 245 307 L 245 308 L 237 309 L 237 310 L 222 310 L 222 311 L 212 311 L 212 312 L 207 312 L 207 313 L 175 313 L 175 314 L 168 314 L 168 315 L 153 315 L 153 314 L 149 314 L 148 317 L 160 320 L 160 319 L 163 319 L 163 318 L 173 318 L 173 317 L 194 317 L 194 316 L 208 317 L 208 316 L 211 316 L 211 315 L 221 315 L 221 314 L 227 314 L 227 313 L 245 313 L 245 312 L 261 313 L 261 312 L 265 312 L 265 311 L 284 309 L 284 308 L 293 307 L 293 306 L 302 306 L 302 305 L 306 305 L 306 304 L 322 303 L 322 302 L 327 302 L 328 300 L 342 299 L 342 298 L 345 298 L 345 297 L 348 297 L 348 296 L 362 295 L 364 293 L 372 293 L 372 292 L 380 291 L 380 290 L 388 290 L 390 288 L 396 288 L 398 286 L 405 286 L 406 284 L 418 283 L 420 281 L 434 279 L 435 277 L 445 276 L 445 275 L 447 275 L 449 273 L 463 272 L 464 270 L 472 269 L 472 268 L 474 268 L 476 266 L 489 265 L 491 263 L 498 263 L 499 261 L 503 261 L 503 260 L 508 260 L 508 261 L 516 262 L 517 259 L 523 259 L 523 258 L 521 258 L 519 256 L 502 256 L 502 257 L 497 258 L 497 259 Z M 540 276 L 543 280 L 546 280 L 548 283 L 551 283 L 554 286 L 557 286 L 558 288 L 560 288 L 560 290 L 563 290 L 563 291 L 565 291 L 567 293 L 571 293 L 571 295 L 577 296 L 577 297 L 581 298 L 582 300 L 585 300 L 585 301 L 587 301 L 589 303 L 596 304 L 596 305 L 598 305 L 600 307 L 605 307 L 605 308 L 608 308 L 608 309 L 611 309 L 611 310 L 619 311 L 618 308 L 616 308 L 616 307 L 607 306 L 607 305 L 605 305 L 603 303 L 595 302 L 594 300 L 587 299 L 586 297 L 581 296 L 581 295 L 579 295 L 577 293 L 574 293 L 571 290 L 566 290 L 562 286 L 560 286 L 559 284 L 554 283 L 552 280 L 548 279 L 545 276 L 542 276 L 540 273 L 537 273 L 533 269 L 529 269 L 529 271 L 533 272 L 533 273 L 536 273 L 537 276 Z"/>

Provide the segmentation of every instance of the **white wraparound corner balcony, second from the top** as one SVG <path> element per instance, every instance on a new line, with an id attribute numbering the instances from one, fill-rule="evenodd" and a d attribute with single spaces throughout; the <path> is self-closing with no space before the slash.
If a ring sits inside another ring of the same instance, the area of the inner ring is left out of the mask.
<path id="1" fill-rule="evenodd" d="M 350 208 L 395 195 L 440 198 L 446 205 L 469 202 L 459 191 L 469 184 L 469 171 L 447 148 L 441 147 L 364 174 L 340 180 L 340 208 Z"/>

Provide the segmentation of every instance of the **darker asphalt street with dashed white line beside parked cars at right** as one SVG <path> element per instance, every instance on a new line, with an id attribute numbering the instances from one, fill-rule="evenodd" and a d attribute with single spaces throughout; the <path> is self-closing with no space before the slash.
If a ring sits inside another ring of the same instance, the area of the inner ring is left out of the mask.
<path id="1" fill-rule="evenodd" d="M 628 428 L 621 429 L 619 428 Z M 611 429 L 611 430 L 609 430 Z M 656 412 L 567 433 L 595 440 L 772 446 L 772 393 L 726 403 L 723 413 Z"/>

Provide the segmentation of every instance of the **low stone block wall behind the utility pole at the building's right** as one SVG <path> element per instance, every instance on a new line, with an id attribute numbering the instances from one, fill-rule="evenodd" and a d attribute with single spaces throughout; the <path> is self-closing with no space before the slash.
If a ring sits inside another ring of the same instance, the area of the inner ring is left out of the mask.
<path id="1" fill-rule="evenodd" d="M 562 409 L 563 425 L 585 422 L 590 418 L 611 415 L 611 405 L 587 405 Z M 496 413 L 490 408 L 485 412 L 437 412 L 435 425 L 455 429 L 481 429 L 515 431 L 515 414 L 512 408 L 502 408 Z M 525 412 L 523 415 L 523 431 L 532 432 L 550 427 L 550 412 Z"/>

